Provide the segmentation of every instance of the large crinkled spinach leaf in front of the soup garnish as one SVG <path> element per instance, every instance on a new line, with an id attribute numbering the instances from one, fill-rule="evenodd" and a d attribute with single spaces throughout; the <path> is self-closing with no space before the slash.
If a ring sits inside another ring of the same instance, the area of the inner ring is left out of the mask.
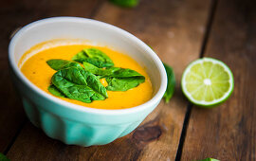
<path id="1" fill-rule="evenodd" d="M 107 98 L 106 89 L 97 76 L 76 67 L 59 70 L 51 81 L 67 98 L 87 103 Z"/>

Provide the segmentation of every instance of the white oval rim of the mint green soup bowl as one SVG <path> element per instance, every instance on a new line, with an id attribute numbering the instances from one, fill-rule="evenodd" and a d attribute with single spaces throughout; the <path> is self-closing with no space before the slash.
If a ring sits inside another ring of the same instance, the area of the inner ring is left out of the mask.
<path id="1" fill-rule="evenodd" d="M 160 79 L 161 79 L 160 87 L 153 98 L 151 98 L 150 100 L 146 101 L 143 104 L 140 104 L 135 107 L 127 108 L 127 109 L 106 110 L 106 109 L 90 108 L 90 107 L 70 103 L 70 102 L 60 99 L 60 98 L 55 98 L 55 97 L 47 94 L 45 91 L 43 91 L 39 87 L 37 87 L 35 84 L 33 84 L 30 80 L 28 80 L 24 76 L 24 74 L 20 71 L 20 69 L 18 68 L 18 65 L 14 61 L 14 46 L 15 46 L 16 42 L 19 40 L 19 38 L 21 36 L 23 36 L 23 34 L 27 30 L 29 30 L 32 27 L 37 27 L 37 26 L 40 26 L 42 24 L 47 24 L 47 23 L 58 23 L 58 22 L 81 22 L 81 23 L 83 22 L 84 23 L 85 21 L 87 21 L 87 23 L 92 23 L 95 25 L 106 27 L 107 29 L 113 29 L 113 30 L 119 32 L 119 34 L 123 34 L 125 37 L 127 37 L 131 41 L 136 42 L 137 45 L 140 45 L 143 47 L 143 49 L 146 51 L 146 53 L 149 54 L 150 57 L 155 62 L 156 66 L 158 67 L 159 73 L 160 73 Z M 20 80 L 24 81 L 25 84 L 30 89 L 32 89 L 34 92 L 40 94 L 42 97 L 47 98 L 47 99 L 53 101 L 54 103 L 62 105 L 62 108 L 68 108 L 68 109 L 73 109 L 73 110 L 76 110 L 79 112 L 87 112 L 87 113 L 98 114 L 98 115 L 125 115 L 125 114 L 131 114 L 131 113 L 137 113 L 137 112 L 143 111 L 147 108 L 150 108 L 151 104 L 156 104 L 162 98 L 162 96 L 166 90 L 166 86 L 167 86 L 167 76 L 166 76 L 165 68 L 164 68 L 162 62 L 160 61 L 160 59 L 157 57 L 157 55 L 153 51 L 153 49 L 151 49 L 148 45 L 143 43 L 141 40 L 139 40 L 133 34 L 127 32 L 119 27 L 115 27 L 110 24 L 103 23 L 101 21 L 88 19 L 88 18 L 82 18 L 82 17 L 68 17 L 68 16 L 50 17 L 50 18 L 32 22 L 32 23 L 28 24 L 27 26 L 22 27 L 12 37 L 12 39 L 9 43 L 9 64 L 12 67 L 15 75 L 17 75 L 17 77 Z"/>

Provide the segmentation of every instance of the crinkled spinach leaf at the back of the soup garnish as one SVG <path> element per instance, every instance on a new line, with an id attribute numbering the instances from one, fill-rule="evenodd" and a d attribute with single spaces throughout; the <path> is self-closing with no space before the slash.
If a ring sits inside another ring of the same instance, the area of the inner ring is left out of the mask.
<path id="1" fill-rule="evenodd" d="M 97 48 L 86 48 L 72 58 L 73 61 L 79 63 L 92 63 L 97 67 L 114 66 L 112 60 L 101 50 Z"/>

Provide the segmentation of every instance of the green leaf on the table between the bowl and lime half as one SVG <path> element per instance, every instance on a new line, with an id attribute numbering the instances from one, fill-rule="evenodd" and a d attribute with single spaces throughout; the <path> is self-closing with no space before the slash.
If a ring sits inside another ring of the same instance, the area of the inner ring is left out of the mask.
<path id="1" fill-rule="evenodd" d="M 175 76 L 174 76 L 174 70 L 171 66 L 169 66 L 166 63 L 163 63 L 165 70 L 166 70 L 166 74 L 167 74 L 167 88 L 166 91 L 164 93 L 163 98 L 165 98 L 165 102 L 168 103 L 170 101 L 170 99 L 173 97 L 174 95 L 174 88 L 175 88 Z"/>

